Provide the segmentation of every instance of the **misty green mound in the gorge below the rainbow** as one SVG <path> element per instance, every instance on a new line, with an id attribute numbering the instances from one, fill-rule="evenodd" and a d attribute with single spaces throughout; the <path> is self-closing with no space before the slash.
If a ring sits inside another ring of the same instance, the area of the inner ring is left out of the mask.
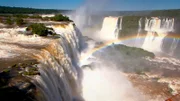
<path id="1" fill-rule="evenodd" d="M 145 58 L 155 57 L 152 52 L 122 44 L 112 44 L 105 48 L 102 53 L 97 52 L 95 56 L 105 60 L 113 60 L 113 64 L 117 65 L 124 72 L 133 72 L 141 75 L 149 72 L 152 68 L 149 66 L 149 61 Z"/>

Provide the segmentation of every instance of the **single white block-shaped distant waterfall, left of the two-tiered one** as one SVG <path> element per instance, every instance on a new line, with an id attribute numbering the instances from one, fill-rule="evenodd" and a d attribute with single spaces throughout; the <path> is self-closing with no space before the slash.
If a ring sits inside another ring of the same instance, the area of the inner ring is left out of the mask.
<path id="1" fill-rule="evenodd" d="M 122 30 L 122 17 L 105 17 L 100 31 L 106 40 L 116 40 Z"/>

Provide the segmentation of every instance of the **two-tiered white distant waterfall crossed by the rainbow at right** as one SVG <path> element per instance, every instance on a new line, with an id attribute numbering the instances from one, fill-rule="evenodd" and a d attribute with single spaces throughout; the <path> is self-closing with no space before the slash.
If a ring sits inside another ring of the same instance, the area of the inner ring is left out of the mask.
<path id="1" fill-rule="evenodd" d="M 164 38 L 169 32 L 174 31 L 174 18 L 146 18 L 145 31 L 147 31 L 148 34 L 142 48 L 153 52 L 162 52 Z"/>

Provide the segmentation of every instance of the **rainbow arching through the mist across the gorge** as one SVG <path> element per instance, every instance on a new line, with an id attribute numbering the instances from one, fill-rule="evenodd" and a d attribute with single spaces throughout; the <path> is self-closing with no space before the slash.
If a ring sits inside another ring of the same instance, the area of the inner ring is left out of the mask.
<path id="1" fill-rule="evenodd" d="M 159 37 L 161 37 L 161 36 L 159 36 Z M 106 48 L 108 46 L 111 46 L 113 43 L 118 44 L 118 43 L 122 43 L 122 42 L 125 42 L 125 41 L 135 40 L 136 38 L 137 38 L 137 35 L 132 35 L 132 36 L 119 38 L 117 40 L 110 40 L 110 41 L 108 41 L 108 42 L 106 42 L 106 43 L 104 43 L 104 44 L 102 44 L 102 45 L 100 45 L 98 47 L 95 47 L 92 50 L 88 51 L 86 53 L 86 55 L 84 55 L 84 56 L 82 56 L 80 58 L 80 61 L 83 62 L 84 60 L 88 59 L 93 53 L 95 53 L 95 52 L 97 52 L 99 50 L 102 50 L 102 49 L 104 49 L 104 48 Z M 139 39 L 145 39 L 146 35 L 140 35 L 138 38 Z M 166 39 L 174 39 L 175 38 L 175 39 L 180 40 L 180 34 L 168 34 L 165 38 Z"/>

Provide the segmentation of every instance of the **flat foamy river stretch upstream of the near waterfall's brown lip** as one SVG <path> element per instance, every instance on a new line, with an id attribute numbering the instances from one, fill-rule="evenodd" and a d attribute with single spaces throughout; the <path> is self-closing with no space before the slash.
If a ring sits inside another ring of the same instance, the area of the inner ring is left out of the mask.
<path id="1" fill-rule="evenodd" d="M 0 58 L 13 58 L 20 55 L 28 55 L 26 53 L 36 52 L 36 49 L 29 49 L 28 46 L 43 46 L 50 40 L 32 35 L 26 36 L 19 34 L 19 31 L 24 31 L 25 28 L 0 30 Z"/>

